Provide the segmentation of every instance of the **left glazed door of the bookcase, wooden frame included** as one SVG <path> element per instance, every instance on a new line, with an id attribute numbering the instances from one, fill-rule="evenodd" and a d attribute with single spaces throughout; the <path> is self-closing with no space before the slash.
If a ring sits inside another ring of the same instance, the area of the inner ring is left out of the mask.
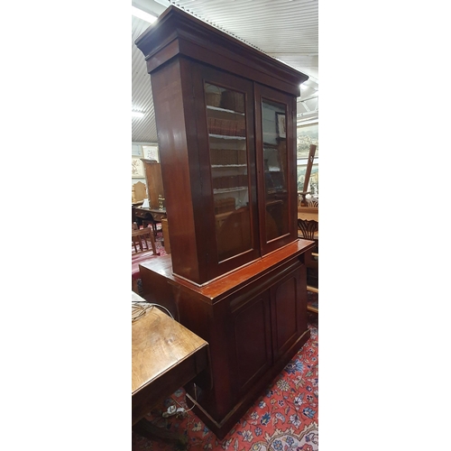
<path id="1" fill-rule="evenodd" d="M 251 262 L 260 252 L 253 85 L 215 69 L 198 66 L 198 71 L 204 111 L 200 122 L 207 125 L 203 191 L 214 216 L 209 227 L 214 234 L 208 238 L 208 262 L 216 263 L 216 270 L 210 268 L 216 277 Z"/>

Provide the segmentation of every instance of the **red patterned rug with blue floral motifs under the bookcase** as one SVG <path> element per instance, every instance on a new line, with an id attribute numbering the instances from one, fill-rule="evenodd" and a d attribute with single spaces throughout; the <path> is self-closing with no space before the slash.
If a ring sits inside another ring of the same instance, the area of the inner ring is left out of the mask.
<path id="1" fill-rule="evenodd" d="M 318 295 L 310 293 L 309 301 L 318 304 Z M 161 417 L 170 405 L 186 410 L 191 407 L 185 391 L 179 389 L 146 419 L 166 431 L 179 433 L 182 442 L 153 441 L 132 432 L 133 451 L 318 451 L 318 315 L 309 314 L 308 320 L 308 342 L 223 440 L 218 440 L 193 411 L 179 418 Z"/>

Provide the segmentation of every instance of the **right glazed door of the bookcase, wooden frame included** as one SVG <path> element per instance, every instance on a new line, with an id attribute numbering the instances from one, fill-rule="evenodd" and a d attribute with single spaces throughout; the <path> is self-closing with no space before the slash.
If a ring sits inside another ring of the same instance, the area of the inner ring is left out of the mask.
<path id="1" fill-rule="evenodd" d="M 278 249 L 296 240 L 296 170 L 294 107 L 292 97 L 269 87 L 256 85 L 257 108 L 256 143 L 257 164 L 262 173 L 259 178 L 261 200 L 260 234 L 262 253 Z M 293 182 L 294 180 L 294 182 Z"/>

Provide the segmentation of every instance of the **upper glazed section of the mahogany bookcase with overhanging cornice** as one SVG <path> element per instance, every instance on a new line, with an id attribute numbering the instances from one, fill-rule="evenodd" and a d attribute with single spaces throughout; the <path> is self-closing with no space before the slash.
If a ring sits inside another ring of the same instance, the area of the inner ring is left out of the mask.
<path id="1" fill-rule="evenodd" d="M 296 97 L 308 77 L 175 6 L 136 45 L 151 74 L 173 271 L 202 285 L 294 242 Z"/>

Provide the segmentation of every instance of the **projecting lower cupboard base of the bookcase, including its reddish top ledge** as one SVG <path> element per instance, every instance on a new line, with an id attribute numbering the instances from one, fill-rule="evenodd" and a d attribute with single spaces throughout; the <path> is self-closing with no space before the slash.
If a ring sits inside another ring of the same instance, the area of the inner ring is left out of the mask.
<path id="1" fill-rule="evenodd" d="M 304 244 L 292 244 L 198 286 L 174 276 L 170 255 L 140 265 L 144 297 L 207 341 L 208 377 L 186 386 L 195 411 L 226 436 L 308 340 Z"/>

